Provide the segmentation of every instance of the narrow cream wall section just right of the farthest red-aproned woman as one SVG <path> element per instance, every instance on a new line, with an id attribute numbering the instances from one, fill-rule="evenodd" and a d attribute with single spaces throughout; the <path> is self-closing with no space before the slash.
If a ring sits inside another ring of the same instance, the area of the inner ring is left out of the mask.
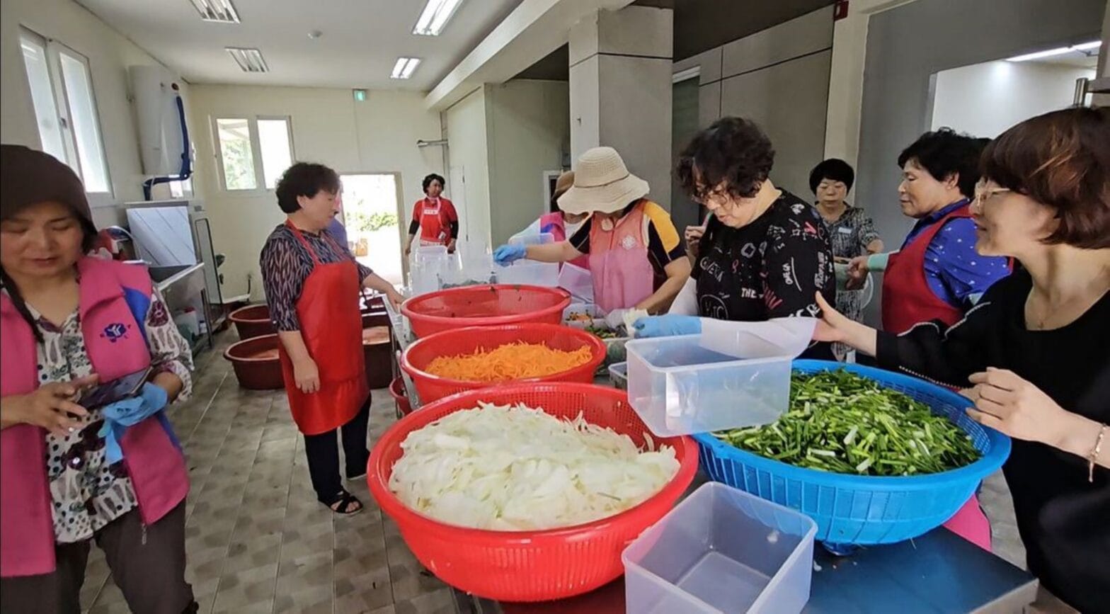
<path id="1" fill-rule="evenodd" d="M 447 124 L 447 198 L 458 210 L 458 236 L 490 243 L 490 134 L 483 85 L 444 111 Z M 462 192 L 462 193 L 461 193 Z"/>

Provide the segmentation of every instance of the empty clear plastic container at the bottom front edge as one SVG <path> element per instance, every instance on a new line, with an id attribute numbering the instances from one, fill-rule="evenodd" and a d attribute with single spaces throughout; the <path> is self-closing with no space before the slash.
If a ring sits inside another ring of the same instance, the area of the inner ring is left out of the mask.
<path id="1" fill-rule="evenodd" d="M 809 601 L 805 514 L 718 482 L 702 485 L 620 555 L 626 612 L 796 614 Z"/>

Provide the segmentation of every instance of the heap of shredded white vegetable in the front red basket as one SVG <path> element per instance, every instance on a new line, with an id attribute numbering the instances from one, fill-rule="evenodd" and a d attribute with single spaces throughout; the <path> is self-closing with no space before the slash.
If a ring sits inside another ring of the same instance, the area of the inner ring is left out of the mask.
<path id="1" fill-rule="evenodd" d="M 447 524 L 536 531 L 628 510 L 678 472 L 673 447 L 525 405 L 482 403 L 408 433 L 390 490 Z"/>

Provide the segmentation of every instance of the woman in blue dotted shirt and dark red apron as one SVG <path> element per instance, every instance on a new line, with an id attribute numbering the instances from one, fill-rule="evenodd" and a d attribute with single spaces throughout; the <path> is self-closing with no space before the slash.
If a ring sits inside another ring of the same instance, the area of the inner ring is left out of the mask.
<path id="1" fill-rule="evenodd" d="M 931 321 L 951 326 L 991 284 L 1010 273 L 1007 259 L 980 256 L 975 251 L 969 205 L 986 143 L 986 139 L 940 130 L 926 132 L 898 157 L 902 213 L 917 223 L 900 250 L 854 259 L 849 269 L 856 283 L 868 271 L 886 271 L 882 330 L 900 334 Z M 990 550 L 990 523 L 978 497 L 971 497 L 945 526 Z"/>

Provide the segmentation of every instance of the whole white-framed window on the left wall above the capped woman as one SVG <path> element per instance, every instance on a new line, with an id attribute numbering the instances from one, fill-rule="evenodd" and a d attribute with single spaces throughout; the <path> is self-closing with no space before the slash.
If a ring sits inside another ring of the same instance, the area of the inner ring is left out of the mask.
<path id="1" fill-rule="evenodd" d="M 72 168 L 90 193 L 111 193 L 89 60 L 57 41 L 20 32 L 42 151 Z"/>

